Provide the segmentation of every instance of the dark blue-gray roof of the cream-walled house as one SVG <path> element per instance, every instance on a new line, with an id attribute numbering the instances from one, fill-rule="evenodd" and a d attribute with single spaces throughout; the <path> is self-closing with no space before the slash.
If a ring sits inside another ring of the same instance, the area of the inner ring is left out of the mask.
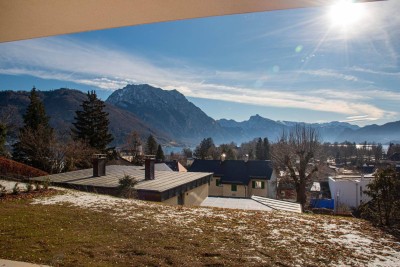
<path id="1" fill-rule="evenodd" d="M 273 172 L 270 160 L 201 160 L 195 159 L 189 172 L 212 172 L 221 183 L 248 184 L 251 179 L 270 180 Z"/>

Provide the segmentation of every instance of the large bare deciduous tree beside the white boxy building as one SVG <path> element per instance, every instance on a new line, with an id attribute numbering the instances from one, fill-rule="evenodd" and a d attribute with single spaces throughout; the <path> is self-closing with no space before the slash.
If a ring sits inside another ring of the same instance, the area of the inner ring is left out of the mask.
<path id="1" fill-rule="evenodd" d="M 289 133 L 282 133 L 280 140 L 272 147 L 275 165 L 283 168 L 293 181 L 297 202 L 305 205 L 306 188 L 318 167 L 310 165 L 320 145 L 316 129 L 305 125 L 296 125 Z"/>

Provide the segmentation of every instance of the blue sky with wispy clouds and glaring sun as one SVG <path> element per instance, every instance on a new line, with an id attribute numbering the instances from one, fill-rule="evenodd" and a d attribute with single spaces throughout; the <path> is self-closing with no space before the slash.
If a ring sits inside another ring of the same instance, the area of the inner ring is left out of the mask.
<path id="1" fill-rule="evenodd" d="M 0 44 L 0 90 L 177 89 L 214 119 L 400 120 L 399 0 Z"/>

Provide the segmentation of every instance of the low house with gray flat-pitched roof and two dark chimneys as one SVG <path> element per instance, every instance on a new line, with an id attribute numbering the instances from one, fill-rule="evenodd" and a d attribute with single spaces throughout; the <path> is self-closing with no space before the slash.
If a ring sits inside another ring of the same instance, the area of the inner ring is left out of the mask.
<path id="1" fill-rule="evenodd" d="M 174 172 L 165 164 L 157 171 L 153 159 L 146 159 L 145 167 L 110 165 L 97 157 L 93 168 L 33 178 L 35 181 L 50 179 L 51 184 L 118 195 L 119 180 L 125 175 L 135 178 L 137 196 L 141 200 L 163 202 L 171 205 L 200 205 L 208 196 L 212 173 Z M 168 168 L 168 169 L 166 169 Z"/>

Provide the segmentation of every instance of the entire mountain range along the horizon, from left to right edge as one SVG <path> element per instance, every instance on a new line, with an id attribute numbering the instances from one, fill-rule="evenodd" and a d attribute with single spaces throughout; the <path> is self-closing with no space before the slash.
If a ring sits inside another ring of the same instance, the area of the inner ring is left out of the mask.
<path id="1" fill-rule="evenodd" d="M 61 88 L 39 91 L 50 124 L 59 132 L 67 132 L 74 121 L 75 111 L 86 99 L 86 94 Z M 15 110 L 13 121 L 22 126 L 22 114 L 29 103 L 29 92 L 1 91 L 1 110 Z M 177 90 L 163 90 L 147 84 L 127 85 L 114 91 L 105 101 L 109 113 L 110 132 L 114 145 L 124 143 L 133 130 L 142 138 L 152 134 L 159 143 L 171 146 L 197 145 L 203 138 L 212 137 L 215 143 L 235 142 L 240 144 L 257 137 L 278 139 L 283 131 L 289 131 L 298 122 L 274 121 L 254 115 L 249 120 L 214 120 L 204 111 L 189 102 Z M 399 142 L 400 121 L 384 125 L 359 127 L 346 122 L 304 123 L 316 128 L 325 142 Z"/>

